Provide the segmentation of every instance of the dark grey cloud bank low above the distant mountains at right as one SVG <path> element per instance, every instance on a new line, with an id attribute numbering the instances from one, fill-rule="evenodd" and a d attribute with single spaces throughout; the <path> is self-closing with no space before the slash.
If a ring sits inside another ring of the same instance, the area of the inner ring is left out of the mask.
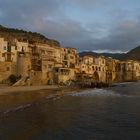
<path id="1" fill-rule="evenodd" d="M 102 33 L 102 32 L 101 32 Z M 101 38 L 86 38 L 77 43 L 79 50 L 127 52 L 140 44 L 140 20 L 117 23 Z"/>

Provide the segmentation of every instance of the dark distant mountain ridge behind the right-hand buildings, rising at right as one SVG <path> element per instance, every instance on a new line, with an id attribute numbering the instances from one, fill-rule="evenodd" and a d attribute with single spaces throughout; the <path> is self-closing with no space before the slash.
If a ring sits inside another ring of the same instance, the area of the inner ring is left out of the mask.
<path id="1" fill-rule="evenodd" d="M 95 52 L 80 52 L 79 56 L 83 57 L 85 55 L 92 55 L 95 57 L 105 56 L 112 57 L 118 60 L 137 60 L 140 61 L 140 46 L 130 50 L 127 53 L 95 53 Z"/>

